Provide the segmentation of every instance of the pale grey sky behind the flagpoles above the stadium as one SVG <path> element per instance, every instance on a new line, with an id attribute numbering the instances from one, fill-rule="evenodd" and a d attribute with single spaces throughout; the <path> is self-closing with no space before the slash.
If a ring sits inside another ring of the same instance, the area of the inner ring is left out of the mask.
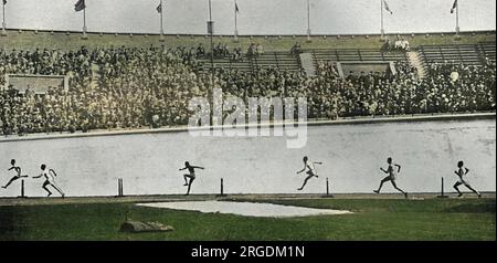
<path id="1" fill-rule="evenodd" d="M 86 0 L 89 32 L 157 33 L 160 0 Z M 372 34 L 380 31 L 381 0 L 309 0 L 313 34 Z M 8 0 L 7 27 L 80 31 L 76 0 Z M 207 32 L 208 0 L 163 0 L 165 32 Z M 446 32 L 455 29 L 454 0 L 387 0 L 385 32 Z M 237 0 L 240 34 L 305 34 L 307 0 Z M 495 0 L 458 0 L 462 31 L 495 30 Z M 233 34 L 234 0 L 212 0 L 216 34 Z M 1 15 L 1 13 L 0 13 Z"/>

